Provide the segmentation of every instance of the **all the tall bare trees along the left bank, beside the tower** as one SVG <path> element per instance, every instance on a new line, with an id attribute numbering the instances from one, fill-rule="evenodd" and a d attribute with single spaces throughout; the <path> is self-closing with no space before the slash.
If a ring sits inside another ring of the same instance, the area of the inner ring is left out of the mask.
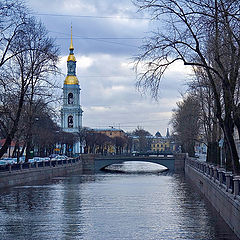
<path id="1" fill-rule="evenodd" d="M 37 118 L 45 115 L 51 123 L 46 116 L 54 89 L 50 75 L 58 72 L 59 49 L 22 1 L 0 0 L 0 18 L 0 131 L 6 139 L 0 158 L 15 138 L 24 142 L 28 159 Z"/>

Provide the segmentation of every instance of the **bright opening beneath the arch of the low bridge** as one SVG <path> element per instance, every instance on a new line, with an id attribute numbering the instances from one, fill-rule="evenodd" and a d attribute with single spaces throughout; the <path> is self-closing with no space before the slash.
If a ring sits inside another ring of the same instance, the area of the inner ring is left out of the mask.
<path id="1" fill-rule="evenodd" d="M 161 173 L 167 171 L 168 168 L 153 162 L 123 161 L 109 164 L 103 167 L 101 170 L 115 173 Z"/>

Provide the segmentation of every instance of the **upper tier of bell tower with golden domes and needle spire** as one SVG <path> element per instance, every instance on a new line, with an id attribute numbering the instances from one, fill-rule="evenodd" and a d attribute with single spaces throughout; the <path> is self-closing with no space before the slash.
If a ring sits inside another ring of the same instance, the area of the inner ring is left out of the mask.
<path id="1" fill-rule="evenodd" d="M 78 85 L 78 79 L 76 77 L 76 58 L 74 56 L 73 42 L 72 42 L 72 27 L 71 27 L 71 44 L 69 47 L 70 53 L 67 59 L 67 77 L 65 78 L 64 84 L 67 85 Z"/>

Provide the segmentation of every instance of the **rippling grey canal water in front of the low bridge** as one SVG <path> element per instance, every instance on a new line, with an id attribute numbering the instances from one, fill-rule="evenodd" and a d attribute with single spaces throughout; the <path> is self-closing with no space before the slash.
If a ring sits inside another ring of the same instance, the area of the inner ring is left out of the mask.
<path id="1" fill-rule="evenodd" d="M 2 191 L 0 239 L 237 240 L 184 176 L 142 169 Z"/>

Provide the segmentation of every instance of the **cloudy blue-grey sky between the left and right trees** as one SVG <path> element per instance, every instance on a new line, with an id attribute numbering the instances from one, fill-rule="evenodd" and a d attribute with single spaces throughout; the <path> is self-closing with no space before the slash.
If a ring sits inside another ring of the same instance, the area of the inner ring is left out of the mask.
<path id="1" fill-rule="evenodd" d="M 26 4 L 56 38 L 63 73 L 72 24 L 83 126 L 124 131 L 141 126 L 152 134 L 166 134 L 187 71 L 178 63 L 165 74 L 158 102 L 136 90 L 132 59 L 155 28 L 146 13 L 138 13 L 131 0 L 26 0 Z M 64 78 L 59 77 L 59 85 Z"/>

